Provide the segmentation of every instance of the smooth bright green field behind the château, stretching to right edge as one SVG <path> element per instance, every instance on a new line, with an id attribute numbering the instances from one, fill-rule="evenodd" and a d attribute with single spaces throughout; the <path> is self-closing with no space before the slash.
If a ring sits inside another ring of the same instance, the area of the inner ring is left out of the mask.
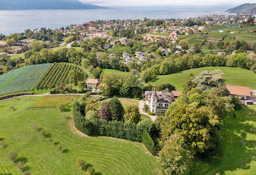
<path id="1" fill-rule="evenodd" d="M 164 76 L 158 76 L 156 81 L 152 82 L 152 86 L 159 86 L 161 84 L 172 84 L 177 90 L 183 90 L 183 84 L 189 77 L 189 74 L 197 75 L 204 70 L 222 70 L 224 73 L 224 79 L 226 84 L 236 86 L 248 86 L 256 89 L 256 74 L 251 70 L 245 70 L 242 68 L 230 68 L 230 67 L 205 67 L 205 68 L 194 68 L 191 70 L 184 70 L 175 74 L 169 74 Z"/>

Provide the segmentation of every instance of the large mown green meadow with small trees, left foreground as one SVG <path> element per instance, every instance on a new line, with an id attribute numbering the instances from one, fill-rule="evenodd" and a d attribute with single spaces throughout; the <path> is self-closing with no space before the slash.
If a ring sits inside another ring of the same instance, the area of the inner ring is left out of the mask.
<path id="1" fill-rule="evenodd" d="M 22 97 L 0 102 L 0 137 L 8 144 L 0 149 L 0 172 L 22 174 L 8 155 L 26 157 L 32 174 L 84 174 L 77 166 L 84 159 L 101 174 L 155 174 L 156 158 L 148 155 L 142 143 L 112 137 L 81 137 L 75 134 L 71 112 L 57 109 L 26 110 L 42 97 Z M 16 111 L 10 109 L 11 106 Z M 35 128 L 51 132 L 52 142 Z M 59 142 L 69 153 L 53 144 Z"/>

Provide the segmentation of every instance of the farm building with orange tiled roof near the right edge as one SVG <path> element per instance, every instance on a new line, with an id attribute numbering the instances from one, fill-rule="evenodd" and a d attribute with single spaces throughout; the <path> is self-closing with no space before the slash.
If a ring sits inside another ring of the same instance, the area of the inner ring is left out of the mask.
<path id="1" fill-rule="evenodd" d="M 251 97 L 251 89 L 249 87 L 226 85 L 226 88 L 230 91 L 230 97 L 236 96 L 243 101 Z"/>

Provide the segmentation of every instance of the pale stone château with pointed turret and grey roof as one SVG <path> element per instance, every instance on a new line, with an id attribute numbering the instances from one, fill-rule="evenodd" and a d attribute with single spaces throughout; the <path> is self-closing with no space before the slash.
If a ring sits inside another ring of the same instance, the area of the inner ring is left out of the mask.
<path id="1" fill-rule="evenodd" d="M 154 113 L 164 113 L 174 103 L 174 93 L 156 91 L 145 91 L 145 104 L 148 105 L 148 110 Z"/>

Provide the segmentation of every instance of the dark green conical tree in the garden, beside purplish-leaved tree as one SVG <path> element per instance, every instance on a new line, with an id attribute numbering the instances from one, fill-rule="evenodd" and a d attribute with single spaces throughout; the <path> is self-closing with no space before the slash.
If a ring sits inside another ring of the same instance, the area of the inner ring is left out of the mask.
<path id="1" fill-rule="evenodd" d="M 112 120 L 123 121 L 123 106 L 117 97 L 110 100 L 110 116 Z"/>

